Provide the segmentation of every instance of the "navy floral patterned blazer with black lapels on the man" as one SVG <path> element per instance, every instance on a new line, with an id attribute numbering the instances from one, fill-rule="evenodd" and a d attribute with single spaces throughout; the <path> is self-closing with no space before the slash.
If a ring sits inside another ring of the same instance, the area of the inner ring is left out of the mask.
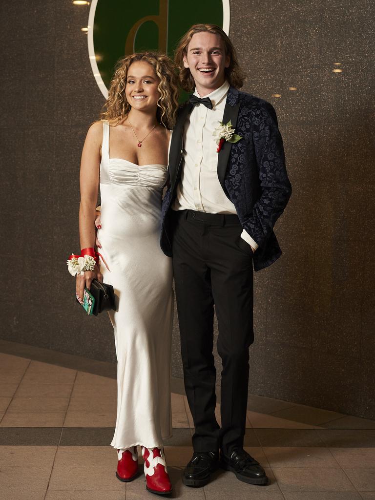
<path id="1" fill-rule="evenodd" d="M 169 150 L 169 180 L 161 208 L 160 237 L 160 246 L 168 256 L 172 256 L 170 206 L 181 175 L 183 125 L 191 109 L 192 105 L 187 102 L 178 110 Z M 253 255 L 257 271 L 281 255 L 273 226 L 288 202 L 291 185 L 272 105 L 231 86 L 226 96 L 223 123 L 229 120 L 235 133 L 242 138 L 235 144 L 224 142 L 217 155 L 217 177 L 234 204 L 242 227 L 259 245 Z"/>

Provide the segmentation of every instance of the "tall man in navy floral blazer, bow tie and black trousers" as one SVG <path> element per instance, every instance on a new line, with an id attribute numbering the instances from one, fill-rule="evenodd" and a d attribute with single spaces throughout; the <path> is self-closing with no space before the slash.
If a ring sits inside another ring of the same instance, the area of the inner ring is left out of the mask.
<path id="1" fill-rule="evenodd" d="M 282 140 L 273 107 L 238 90 L 243 78 L 222 29 L 192 26 L 175 60 L 182 87 L 195 87 L 173 130 L 161 230 L 161 248 L 173 257 L 184 383 L 195 427 L 183 483 L 203 486 L 220 460 L 239 480 L 265 484 L 263 468 L 243 450 L 243 436 L 252 267 L 259 270 L 280 256 L 272 228 L 291 192 Z M 215 142 L 219 122 L 230 122 L 239 136 L 229 127 L 221 149 Z M 214 413 L 213 306 L 222 360 L 221 428 Z"/>

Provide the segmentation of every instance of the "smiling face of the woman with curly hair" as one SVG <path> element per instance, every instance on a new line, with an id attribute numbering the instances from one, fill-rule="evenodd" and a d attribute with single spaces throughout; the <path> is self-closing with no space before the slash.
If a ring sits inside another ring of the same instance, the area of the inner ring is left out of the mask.
<path id="1" fill-rule="evenodd" d="M 149 111 L 156 109 L 160 93 L 160 80 L 148 62 L 135 61 L 128 67 L 125 94 L 127 102 L 134 109 Z"/>

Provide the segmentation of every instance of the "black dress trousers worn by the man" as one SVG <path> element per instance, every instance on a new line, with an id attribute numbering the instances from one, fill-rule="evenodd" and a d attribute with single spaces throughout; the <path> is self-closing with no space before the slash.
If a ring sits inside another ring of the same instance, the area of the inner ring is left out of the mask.
<path id="1" fill-rule="evenodd" d="M 237 215 L 171 213 L 173 272 L 194 451 L 243 446 L 248 347 L 253 341 L 252 250 Z M 221 429 L 215 418 L 213 311 L 222 361 Z"/>

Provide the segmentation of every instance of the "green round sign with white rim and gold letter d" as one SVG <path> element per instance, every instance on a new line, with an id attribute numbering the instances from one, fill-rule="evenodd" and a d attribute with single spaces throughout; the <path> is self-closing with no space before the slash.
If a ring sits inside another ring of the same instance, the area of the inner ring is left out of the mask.
<path id="1" fill-rule="evenodd" d="M 88 17 L 88 53 L 95 80 L 107 98 L 116 61 L 125 54 L 158 50 L 173 55 L 192 24 L 208 22 L 229 34 L 229 0 L 93 0 Z"/>

